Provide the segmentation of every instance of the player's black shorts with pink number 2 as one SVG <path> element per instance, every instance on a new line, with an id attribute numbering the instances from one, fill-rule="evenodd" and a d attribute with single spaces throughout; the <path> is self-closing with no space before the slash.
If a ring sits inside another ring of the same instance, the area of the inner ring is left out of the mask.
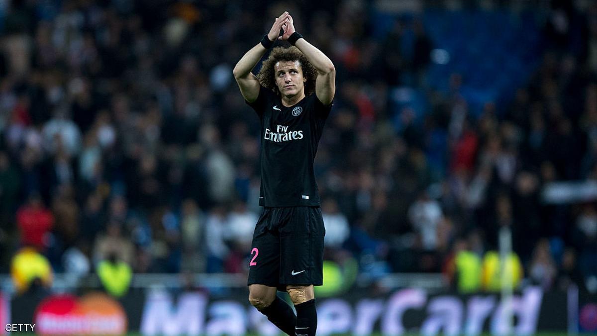
<path id="1" fill-rule="evenodd" d="M 286 291 L 323 284 L 324 220 L 319 206 L 263 208 L 251 245 L 248 285 Z"/>

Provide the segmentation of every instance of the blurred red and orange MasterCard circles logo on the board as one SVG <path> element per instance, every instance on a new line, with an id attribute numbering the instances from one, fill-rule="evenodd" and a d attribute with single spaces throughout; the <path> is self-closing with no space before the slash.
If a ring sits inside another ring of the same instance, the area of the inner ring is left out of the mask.
<path id="1" fill-rule="evenodd" d="M 52 295 L 37 307 L 35 329 L 45 335 L 120 335 L 127 331 L 127 315 L 102 293 Z"/>

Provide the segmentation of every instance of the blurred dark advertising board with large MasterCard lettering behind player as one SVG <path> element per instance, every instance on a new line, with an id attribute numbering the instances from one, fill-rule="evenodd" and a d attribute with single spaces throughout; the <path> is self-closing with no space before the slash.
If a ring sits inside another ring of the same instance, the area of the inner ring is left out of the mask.
<path id="1" fill-rule="evenodd" d="M 285 293 L 278 294 L 287 298 Z M 79 297 L 51 295 L 38 301 L 13 297 L 12 314 L 4 307 L 0 318 L 10 323 L 35 323 L 39 334 L 278 335 L 278 329 L 250 306 L 247 295 L 245 288 L 230 288 L 211 293 L 134 289 L 119 300 L 97 292 Z M 516 293 L 508 306 L 499 294 L 429 294 L 418 288 L 387 293 L 361 290 L 317 300 L 318 335 L 481 335 L 504 334 L 509 328 L 516 334 L 564 333 L 571 326 L 583 332 L 597 331 L 595 297 L 581 295 L 574 309 L 570 309 L 568 298 L 565 292 L 530 287 Z M 573 316 L 570 312 L 578 313 Z"/>

